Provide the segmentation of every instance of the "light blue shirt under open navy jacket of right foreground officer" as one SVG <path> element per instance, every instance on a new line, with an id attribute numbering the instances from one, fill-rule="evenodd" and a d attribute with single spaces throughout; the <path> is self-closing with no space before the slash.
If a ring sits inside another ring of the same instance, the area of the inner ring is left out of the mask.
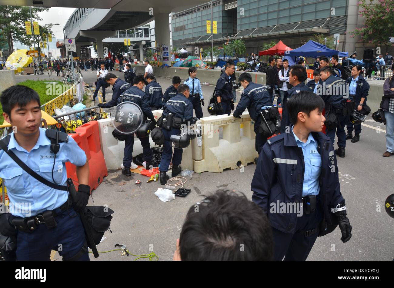
<path id="1" fill-rule="evenodd" d="M 302 149 L 304 155 L 305 172 L 302 197 L 307 195 L 318 195 L 320 192 L 320 172 L 322 170 L 322 158 L 317 148 L 318 143 L 311 133 L 309 133 L 307 142 L 302 142 L 294 133 L 293 128 L 294 126 L 292 126 L 292 133 L 296 139 L 296 144 Z"/>

